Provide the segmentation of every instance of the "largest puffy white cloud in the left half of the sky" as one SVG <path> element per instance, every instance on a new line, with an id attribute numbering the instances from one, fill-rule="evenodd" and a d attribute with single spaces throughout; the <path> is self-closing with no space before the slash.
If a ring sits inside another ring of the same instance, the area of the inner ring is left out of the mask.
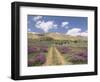
<path id="1" fill-rule="evenodd" d="M 44 32 L 48 32 L 48 30 L 52 28 L 57 28 L 57 24 L 54 24 L 53 21 L 37 21 L 35 26 Z"/>

